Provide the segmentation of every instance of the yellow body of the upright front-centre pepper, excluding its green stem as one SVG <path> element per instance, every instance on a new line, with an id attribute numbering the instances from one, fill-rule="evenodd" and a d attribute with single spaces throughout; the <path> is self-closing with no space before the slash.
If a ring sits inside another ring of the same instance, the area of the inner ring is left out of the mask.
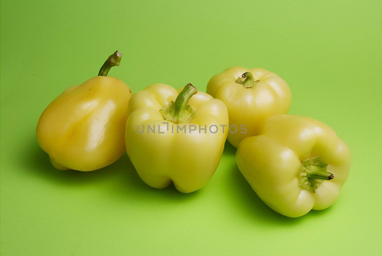
<path id="1" fill-rule="evenodd" d="M 129 118 L 126 123 L 126 151 L 141 179 L 153 188 L 165 188 L 174 183 L 176 189 L 189 193 L 202 188 L 215 173 L 223 153 L 228 127 L 224 133 L 221 129 L 215 134 L 209 132 L 211 125 L 228 125 L 228 112 L 225 104 L 219 99 L 198 91 L 192 96 L 189 105 L 196 116 L 187 123 L 173 124 L 164 120 L 159 109 L 162 109 L 183 88 L 175 90 L 170 85 L 156 83 L 144 90 L 134 93 L 128 109 Z M 168 122 L 167 124 L 163 122 Z M 189 133 L 190 125 L 197 130 Z M 199 134 L 199 124 L 207 133 Z M 145 126 L 144 133 L 142 125 Z M 155 133 L 147 133 L 147 125 L 155 125 Z M 158 133 L 158 125 L 160 132 Z M 172 133 L 172 125 L 174 133 Z M 184 132 L 176 133 L 176 127 L 186 125 Z M 221 127 L 220 127 L 221 128 Z M 213 130 L 214 131 L 214 130 Z"/>

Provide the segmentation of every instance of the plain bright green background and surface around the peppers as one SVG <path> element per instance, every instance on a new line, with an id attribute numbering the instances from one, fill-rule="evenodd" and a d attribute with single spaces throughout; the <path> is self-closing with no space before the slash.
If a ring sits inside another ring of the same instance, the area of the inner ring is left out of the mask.
<path id="1" fill-rule="evenodd" d="M 1 1 L 1 254 L 376 254 L 382 245 L 381 2 Z M 127 155 L 58 171 L 36 141 L 44 108 L 115 50 L 133 92 L 205 91 L 227 67 L 290 85 L 290 114 L 325 122 L 352 166 L 338 201 L 288 218 L 267 207 L 226 143 L 197 192 L 154 189 Z"/>

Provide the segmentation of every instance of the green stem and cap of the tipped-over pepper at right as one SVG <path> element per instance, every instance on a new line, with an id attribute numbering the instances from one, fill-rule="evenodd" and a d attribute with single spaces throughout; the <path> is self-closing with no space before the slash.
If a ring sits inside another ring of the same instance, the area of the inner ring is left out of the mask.
<path id="1" fill-rule="evenodd" d="M 326 170 L 327 166 L 321 157 L 304 160 L 299 171 L 299 186 L 314 193 L 324 180 L 329 181 L 334 178 L 333 173 Z"/>

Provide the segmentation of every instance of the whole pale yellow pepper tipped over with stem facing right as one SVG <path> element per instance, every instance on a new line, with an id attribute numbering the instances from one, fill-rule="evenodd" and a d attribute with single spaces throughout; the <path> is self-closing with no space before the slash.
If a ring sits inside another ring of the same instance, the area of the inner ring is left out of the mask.
<path id="1" fill-rule="evenodd" d="M 270 208 L 288 217 L 332 205 L 350 170 L 350 150 L 332 128 L 303 116 L 267 118 L 236 152 L 239 170 Z"/>

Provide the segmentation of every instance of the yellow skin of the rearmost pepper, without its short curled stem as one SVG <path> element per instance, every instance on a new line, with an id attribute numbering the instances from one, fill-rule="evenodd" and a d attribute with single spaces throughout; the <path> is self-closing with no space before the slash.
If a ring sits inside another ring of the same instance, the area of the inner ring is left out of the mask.
<path id="1" fill-rule="evenodd" d="M 244 88 L 236 80 L 245 72 L 251 72 L 254 81 L 260 81 L 251 88 Z M 228 134 L 228 141 L 236 148 L 241 140 L 259 134 L 259 124 L 265 118 L 287 114 L 292 100 L 288 84 L 275 73 L 262 68 L 227 68 L 210 79 L 207 93 L 226 104 L 230 126 L 235 125 L 239 129 Z M 242 125 L 247 132 L 240 132 Z"/>

